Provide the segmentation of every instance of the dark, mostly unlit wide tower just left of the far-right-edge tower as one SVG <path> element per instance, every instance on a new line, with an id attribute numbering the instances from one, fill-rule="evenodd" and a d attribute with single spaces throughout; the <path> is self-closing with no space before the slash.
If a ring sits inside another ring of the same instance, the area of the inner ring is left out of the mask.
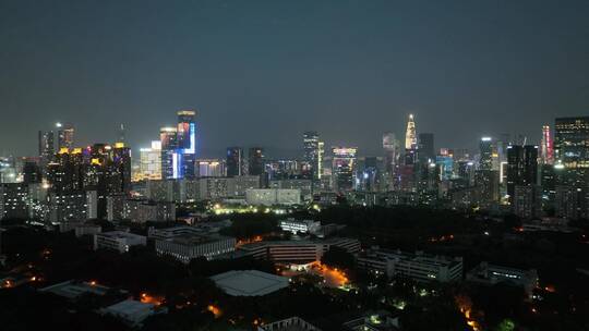
<path id="1" fill-rule="evenodd" d="M 536 185 L 538 181 L 538 146 L 507 147 L 507 195 L 513 199 L 516 186 Z"/>

